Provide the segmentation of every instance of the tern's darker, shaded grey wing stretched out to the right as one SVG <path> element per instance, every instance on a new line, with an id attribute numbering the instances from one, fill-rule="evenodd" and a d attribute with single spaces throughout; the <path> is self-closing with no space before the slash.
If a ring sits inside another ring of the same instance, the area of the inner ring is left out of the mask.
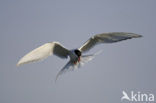
<path id="1" fill-rule="evenodd" d="M 79 50 L 81 52 L 86 52 L 90 50 L 92 47 L 94 47 L 96 44 L 114 43 L 126 39 L 138 38 L 138 37 L 141 37 L 141 35 L 134 34 L 134 33 L 127 33 L 127 32 L 111 32 L 111 33 L 96 34 L 93 37 L 91 37 L 89 40 L 87 40 L 84 43 L 84 45 L 82 45 L 79 48 Z"/>

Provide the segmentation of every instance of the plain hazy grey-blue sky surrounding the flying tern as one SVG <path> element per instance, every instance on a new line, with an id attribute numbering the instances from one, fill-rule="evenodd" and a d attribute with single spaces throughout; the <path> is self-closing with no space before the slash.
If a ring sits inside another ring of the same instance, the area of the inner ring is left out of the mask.
<path id="1" fill-rule="evenodd" d="M 0 0 L 0 103 L 129 103 L 122 91 L 156 95 L 155 0 Z M 56 56 L 16 67 L 52 41 L 80 47 L 94 34 L 142 38 L 98 45 L 82 68 L 55 77 L 68 62 Z"/>

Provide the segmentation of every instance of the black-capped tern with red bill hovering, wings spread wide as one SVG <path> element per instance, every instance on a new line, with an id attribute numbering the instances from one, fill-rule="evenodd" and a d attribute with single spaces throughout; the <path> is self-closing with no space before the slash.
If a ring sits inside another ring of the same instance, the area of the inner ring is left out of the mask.
<path id="1" fill-rule="evenodd" d="M 91 55 L 82 55 L 83 53 L 93 48 L 95 45 L 102 44 L 102 43 L 115 43 L 122 40 L 139 38 L 139 37 L 142 36 L 134 33 L 128 33 L 128 32 L 101 33 L 101 34 L 96 34 L 91 38 L 89 38 L 89 40 L 87 40 L 80 48 L 71 49 L 71 50 L 65 48 L 59 42 L 49 42 L 43 44 L 42 46 L 26 54 L 24 57 L 22 57 L 19 60 L 17 66 L 27 64 L 30 62 L 36 62 L 45 59 L 50 55 L 56 55 L 62 59 L 67 59 L 69 57 L 70 60 L 68 61 L 68 63 L 58 72 L 56 76 L 56 80 L 57 80 L 59 75 L 63 74 L 66 71 L 74 70 L 76 68 L 81 67 L 84 63 L 92 60 L 95 57 L 95 55 L 99 54 L 99 53 L 95 53 Z"/>

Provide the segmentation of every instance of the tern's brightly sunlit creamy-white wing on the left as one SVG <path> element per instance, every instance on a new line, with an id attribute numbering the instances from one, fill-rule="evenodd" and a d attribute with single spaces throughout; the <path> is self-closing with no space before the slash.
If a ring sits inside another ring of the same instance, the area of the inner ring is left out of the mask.
<path id="1" fill-rule="evenodd" d="M 67 58 L 69 50 L 64 48 L 58 42 L 46 43 L 26 54 L 23 58 L 19 60 L 17 66 L 45 59 L 52 54 L 61 58 Z"/>

